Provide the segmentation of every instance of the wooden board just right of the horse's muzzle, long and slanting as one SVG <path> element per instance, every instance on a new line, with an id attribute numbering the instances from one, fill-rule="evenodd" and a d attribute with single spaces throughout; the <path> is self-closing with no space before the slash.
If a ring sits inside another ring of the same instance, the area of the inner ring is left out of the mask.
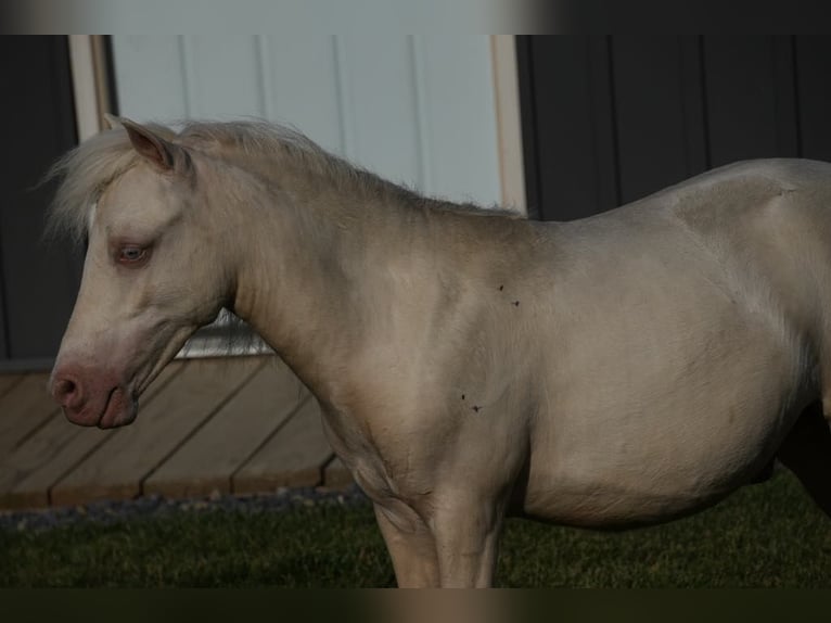
<path id="1" fill-rule="evenodd" d="M 204 425 L 265 365 L 263 357 L 191 360 L 137 421 L 61 479 L 53 506 L 133 498 L 142 483 Z"/>

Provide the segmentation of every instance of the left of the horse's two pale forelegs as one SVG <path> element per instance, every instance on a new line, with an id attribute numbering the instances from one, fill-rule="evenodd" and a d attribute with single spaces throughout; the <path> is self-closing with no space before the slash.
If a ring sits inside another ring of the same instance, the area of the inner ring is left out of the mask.
<path id="1" fill-rule="evenodd" d="M 407 517 L 374 505 L 375 519 L 384 537 L 386 549 L 393 559 L 393 570 L 399 588 L 424 588 L 438 586 L 438 560 L 436 544 L 427 526 L 407 512 Z"/>

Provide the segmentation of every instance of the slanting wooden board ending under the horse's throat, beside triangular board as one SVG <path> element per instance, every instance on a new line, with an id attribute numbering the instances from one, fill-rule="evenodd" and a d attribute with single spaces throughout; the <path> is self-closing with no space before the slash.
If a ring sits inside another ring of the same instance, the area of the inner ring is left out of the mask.
<path id="1" fill-rule="evenodd" d="M 284 365 L 268 365 L 144 482 L 144 495 L 230 493 L 232 474 L 298 406 L 308 390 Z"/>

